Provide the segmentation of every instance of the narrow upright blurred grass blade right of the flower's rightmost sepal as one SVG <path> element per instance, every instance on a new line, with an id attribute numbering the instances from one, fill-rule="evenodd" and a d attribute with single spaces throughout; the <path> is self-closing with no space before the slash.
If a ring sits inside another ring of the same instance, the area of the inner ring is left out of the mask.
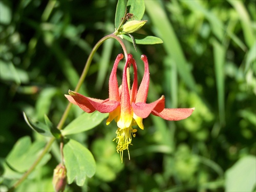
<path id="1" fill-rule="evenodd" d="M 219 118 L 222 125 L 225 124 L 225 102 L 224 102 L 224 64 L 226 50 L 216 39 L 212 40 L 212 46 L 214 48 L 214 67 L 215 76 L 217 82 L 218 92 L 218 105 L 219 105 Z"/>

